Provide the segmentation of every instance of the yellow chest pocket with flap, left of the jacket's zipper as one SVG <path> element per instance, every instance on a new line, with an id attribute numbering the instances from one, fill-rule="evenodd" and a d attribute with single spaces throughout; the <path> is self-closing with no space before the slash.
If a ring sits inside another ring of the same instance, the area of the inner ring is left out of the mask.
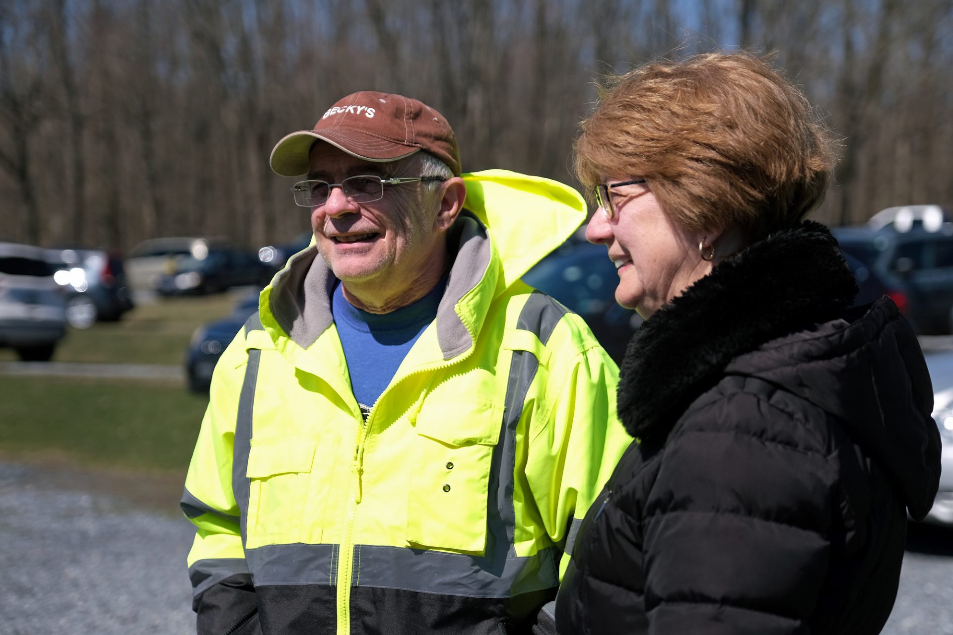
<path id="1" fill-rule="evenodd" d="M 305 435 L 253 438 L 248 456 L 248 526 L 246 546 L 320 542 L 320 526 L 305 524 L 326 502 L 333 452 Z M 327 451 L 326 451 L 327 450 Z M 319 456 L 316 456 L 319 455 Z M 327 474 L 325 474 L 327 472 Z"/>

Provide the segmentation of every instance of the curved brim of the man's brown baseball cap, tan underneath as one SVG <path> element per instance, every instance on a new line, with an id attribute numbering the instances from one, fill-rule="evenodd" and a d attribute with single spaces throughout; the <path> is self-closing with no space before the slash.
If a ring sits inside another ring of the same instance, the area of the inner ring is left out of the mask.
<path id="1" fill-rule="evenodd" d="M 404 146 L 353 129 L 298 130 L 285 135 L 272 150 L 269 163 L 276 174 L 300 176 L 311 168 L 311 147 L 315 140 L 324 141 L 351 156 L 374 163 L 386 163 L 403 159 L 419 148 Z"/>

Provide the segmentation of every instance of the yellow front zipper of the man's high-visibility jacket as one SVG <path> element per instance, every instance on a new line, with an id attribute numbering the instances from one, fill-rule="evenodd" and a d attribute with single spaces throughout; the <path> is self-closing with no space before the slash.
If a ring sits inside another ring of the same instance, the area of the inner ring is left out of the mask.
<path id="1" fill-rule="evenodd" d="M 357 444 L 355 446 L 355 455 L 352 459 L 351 466 L 351 471 L 354 473 L 355 478 L 351 479 L 351 486 L 349 487 L 350 491 L 348 492 L 347 513 L 344 515 L 344 535 L 341 538 L 340 555 L 337 566 L 337 635 L 351 635 L 351 579 L 354 577 L 355 515 L 357 513 L 357 506 L 361 501 L 363 487 L 362 477 L 364 474 L 364 436 L 367 431 L 371 429 L 371 424 L 374 421 L 374 414 L 377 410 L 377 404 L 381 402 L 381 400 L 384 398 L 384 395 L 386 395 L 392 387 L 395 387 L 396 384 L 402 382 L 408 377 L 413 377 L 414 375 L 424 372 L 436 372 L 452 367 L 470 357 L 470 355 L 473 354 L 473 351 L 474 347 L 470 347 L 470 349 L 467 350 L 464 355 L 458 357 L 453 362 L 442 362 L 436 364 L 436 366 L 420 368 L 414 372 L 404 375 L 398 382 L 391 382 L 388 387 L 384 388 L 384 392 L 382 392 L 377 398 L 374 406 L 371 407 L 371 412 L 367 415 L 367 420 L 364 421 L 364 418 L 361 417 L 361 427 L 359 427 L 357 430 Z"/>

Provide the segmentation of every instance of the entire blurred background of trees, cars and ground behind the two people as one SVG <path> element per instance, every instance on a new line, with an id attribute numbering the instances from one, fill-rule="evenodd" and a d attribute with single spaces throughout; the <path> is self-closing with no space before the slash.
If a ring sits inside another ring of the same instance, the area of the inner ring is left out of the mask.
<path id="1" fill-rule="evenodd" d="M 466 171 L 575 183 L 600 78 L 725 48 L 773 51 L 843 139 L 812 217 L 859 301 L 921 334 L 953 475 L 953 0 L 0 2 L 0 632 L 193 628 L 176 503 L 208 383 L 310 238 L 278 139 L 400 92 L 446 115 Z M 526 279 L 620 358 L 640 320 L 604 248 Z M 944 483 L 884 632 L 953 633 Z"/>

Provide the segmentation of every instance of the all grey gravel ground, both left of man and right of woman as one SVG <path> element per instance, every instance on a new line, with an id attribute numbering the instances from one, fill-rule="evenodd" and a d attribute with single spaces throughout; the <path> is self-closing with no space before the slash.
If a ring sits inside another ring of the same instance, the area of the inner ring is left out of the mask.
<path id="1" fill-rule="evenodd" d="M 145 508 L 100 477 L 63 475 L 0 461 L 0 635 L 193 633 L 191 526 L 141 491 Z M 883 633 L 953 635 L 951 585 L 953 530 L 911 526 Z"/>

